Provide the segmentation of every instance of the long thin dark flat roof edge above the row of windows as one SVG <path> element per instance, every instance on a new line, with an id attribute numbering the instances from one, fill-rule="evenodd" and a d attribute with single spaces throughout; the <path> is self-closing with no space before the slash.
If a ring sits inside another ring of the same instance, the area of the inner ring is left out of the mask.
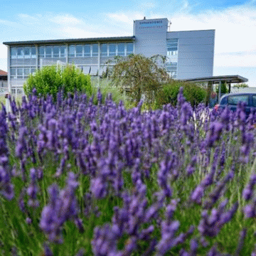
<path id="1" fill-rule="evenodd" d="M 39 40 L 39 41 L 17 41 L 4 42 L 6 46 L 35 46 L 35 45 L 53 45 L 60 43 L 105 43 L 105 42 L 127 42 L 134 41 L 135 36 L 119 36 L 106 38 L 76 38 L 76 39 L 56 39 L 56 40 Z"/>

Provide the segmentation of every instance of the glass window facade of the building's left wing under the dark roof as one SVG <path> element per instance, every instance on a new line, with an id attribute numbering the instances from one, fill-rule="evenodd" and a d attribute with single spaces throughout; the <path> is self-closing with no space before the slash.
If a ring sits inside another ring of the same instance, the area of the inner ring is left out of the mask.
<path id="1" fill-rule="evenodd" d="M 99 47 L 100 46 L 100 47 Z M 53 65 L 60 63 L 65 64 L 67 58 L 70 63 L 75 63 L 82 68 L 84 73 L 97 75 L 100 73 L 98 68 L 98 59 L 95 57 L 114 57 L 127 56 L 134 53 L 134 43 L 84 43 L 72 45 L 56 45 L 56 46 L 18 46 L 10 48 L 10 78 L 11 80 L 24 80 L 36 68 L 44 65 Z M 38 51 L 38 60 L 37 58 Z M 101 66 L 104 67 L 105 60 L 102 60 Z M 104 62 L 104 63 L 103 63 Z M 104 68 L 103 68 L 104 69 Z M 102 68 L 100 69 L 102 70 Z M 21 83 L 21 86 L 23 82 Z"/>

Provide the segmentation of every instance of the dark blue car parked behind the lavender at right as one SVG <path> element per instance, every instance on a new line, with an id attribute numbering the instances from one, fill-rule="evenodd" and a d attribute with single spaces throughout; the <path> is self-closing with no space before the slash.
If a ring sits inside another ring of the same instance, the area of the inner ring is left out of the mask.
<path id="1" fill-rule="evenodd" d="M 220 97 L 220 102 L 215 105 L 215 109 L 229 107 L 230 110 L 235 111 L 239 102 L 245 103 L 245 114 L 248 116 L 250 112 L 256 112 L 256 93 L 239 92 L 228 93 Z"/>

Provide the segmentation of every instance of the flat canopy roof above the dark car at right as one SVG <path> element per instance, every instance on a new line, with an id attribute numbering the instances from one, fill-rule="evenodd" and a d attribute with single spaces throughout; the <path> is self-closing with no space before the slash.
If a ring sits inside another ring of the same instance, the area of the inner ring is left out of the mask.
<path id="1" fill-rule="evenodd" d="M 248 82 L 247 78 L 243 78 L 240 75 L 218 75 L 211 76 L 208 78 L 193 78 L 193 79 L 184 79 L 185 82 L 228 82 L 228 83 L 238 83 L 238 82 Z"/>

